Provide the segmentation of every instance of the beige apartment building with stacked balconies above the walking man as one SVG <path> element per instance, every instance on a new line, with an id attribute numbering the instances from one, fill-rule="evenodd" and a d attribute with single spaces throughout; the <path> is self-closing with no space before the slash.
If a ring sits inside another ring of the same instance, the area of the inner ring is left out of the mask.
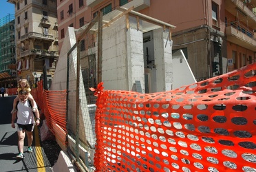
<path id="1" fill-rule="evenodd" d="M 51 80 L 58 59 L 56 1 L 8 2 L 15 5 L 18 80 L 26 78 L 33 86 L 41 78 Z"/>

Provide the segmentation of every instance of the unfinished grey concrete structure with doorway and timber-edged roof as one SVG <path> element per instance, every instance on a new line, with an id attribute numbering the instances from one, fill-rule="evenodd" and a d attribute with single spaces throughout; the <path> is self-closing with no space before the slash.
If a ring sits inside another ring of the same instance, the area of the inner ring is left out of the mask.
<path id="1" fill-rule="evenodd" d="M 125 12 L 125 9 L 114 10 L 103 17 L 105 23 L 110 22 L 108 27 L 103 29 L 102 38 L 102 81 L 105 89 L 135 91 L 135 87 L 138 86 L 135 85 L 136 80 L 139 80 L 143 93 L 171 90 L 171 30 L 175 27 L 134 11 L 128 12 L 127 18 L 126 15 L 122 15 Z M 112 19 L 116 20 L 111 22 Z M 65 54 L 69 42 L 63 45 L 63 56 L 67 56 Z M 97 59 L 97 56 L 95 58 Z M 59 63 L 62 63 L 61 61 L 60 59 Z M 81 68 L 86 69 L 83 66 Z M 56 80 L 63 78 L 56 77 Z M 54 83 L 56 80 L 54 79 Z M 54 85 L 52 89 L 56 89 Z"/>

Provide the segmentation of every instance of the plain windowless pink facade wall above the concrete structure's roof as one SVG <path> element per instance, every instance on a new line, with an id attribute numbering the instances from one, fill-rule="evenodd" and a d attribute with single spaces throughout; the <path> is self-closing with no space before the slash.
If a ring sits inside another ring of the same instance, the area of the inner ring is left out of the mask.
<path id="1" fill-rule="evenodd" d="M 179 0 L 162 0 L 150 1 L 150 7 L 141 10 L 140 13 L 175 25 L 173 30 L 178 32 L 186 28 L 193 28 L 206 23 L 204 1 L 179 1 Z"/>

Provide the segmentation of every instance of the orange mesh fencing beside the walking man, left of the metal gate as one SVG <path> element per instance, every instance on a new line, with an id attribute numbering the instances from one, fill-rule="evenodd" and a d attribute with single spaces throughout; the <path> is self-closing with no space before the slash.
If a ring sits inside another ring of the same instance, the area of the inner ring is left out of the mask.
<path id="1" fill-rule="evenodd" d="M 43 83 L 39 82 L 38 87 L 32 89 L 32 95 L 45 116 L 47 127 L 66 145 L 66 90 L 47 91 L 43 89 Z"/>

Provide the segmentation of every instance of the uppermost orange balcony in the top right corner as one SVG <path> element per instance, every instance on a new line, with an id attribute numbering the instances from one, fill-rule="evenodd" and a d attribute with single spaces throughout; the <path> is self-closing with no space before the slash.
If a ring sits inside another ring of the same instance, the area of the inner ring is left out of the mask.
<path id="1" fill-rule="evenodd" d="M 250 3 L 243 3 L 241 0 L 225 0 L 225 10 L 237 17 L 239 21 L 244 21 L 250 28 L 256 28 L 256 15 L 253 13 L 253 7 L 256 6 L 256 0 Z"/>

